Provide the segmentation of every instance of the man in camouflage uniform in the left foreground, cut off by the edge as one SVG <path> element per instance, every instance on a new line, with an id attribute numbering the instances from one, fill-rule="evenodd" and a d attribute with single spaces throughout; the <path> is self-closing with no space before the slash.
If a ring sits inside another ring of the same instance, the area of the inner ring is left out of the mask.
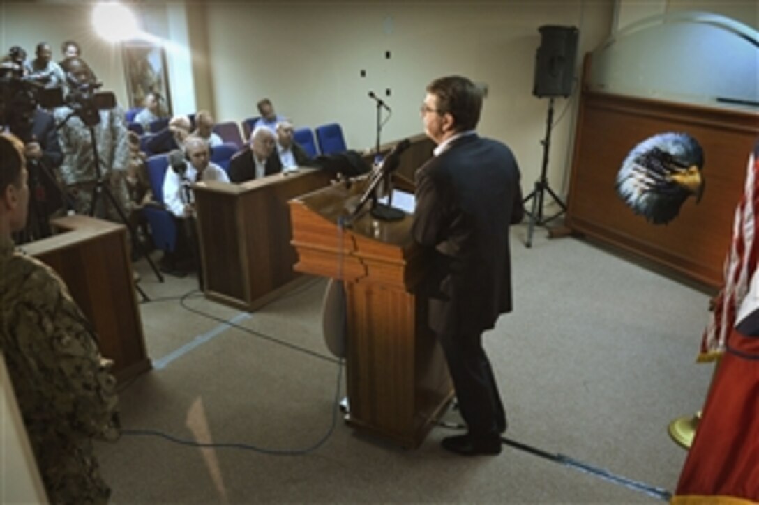
<path id="1" fill-rule="evenodd" d="M 118 438 L 112 362 L 61 278 L 14 252 L 27 219 L 24 145 L 0 135 L 0 350 L 51 503 L 106 503 L 92 438 Z"/>

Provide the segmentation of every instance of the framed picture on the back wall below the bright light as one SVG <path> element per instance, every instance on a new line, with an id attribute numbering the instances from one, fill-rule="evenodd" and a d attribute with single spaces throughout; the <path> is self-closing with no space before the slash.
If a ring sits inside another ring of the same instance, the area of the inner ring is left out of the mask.
<path id="1" fill-rule="evenodd" d="M 172 100 L 168 94 L 166 53 L 160 45 L 146 42 L 124 42 L 124 73 L 127 77 L 129 107 L 143 107 L 148 93 L 160 98 L 162 112 L 172 113 Z"/>

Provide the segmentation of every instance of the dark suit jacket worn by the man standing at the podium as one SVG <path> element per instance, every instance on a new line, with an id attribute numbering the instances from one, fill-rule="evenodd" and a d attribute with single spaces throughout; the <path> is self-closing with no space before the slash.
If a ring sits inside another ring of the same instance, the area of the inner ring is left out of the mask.
<path id="1" fill-rule="evenodd" d="M 524 217 L 519 168 L 495 140 L 462 136 L 417 171 L 411 231 L 434 248 L 430 328 L 481 332 L 512 309 L 509 225 Z"/>

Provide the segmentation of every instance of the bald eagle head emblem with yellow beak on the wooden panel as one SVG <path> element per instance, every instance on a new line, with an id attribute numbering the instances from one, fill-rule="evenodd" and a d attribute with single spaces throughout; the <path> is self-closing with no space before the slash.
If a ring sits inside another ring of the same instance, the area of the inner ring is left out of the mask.
<path id="1" fill-rule="evenodd" d="M 635 212 L 653 224 L 676 218 L 680 207 L 704 194 L 704 149 L 688 133 L 659 133 L 639 143 L 622 162 L 616 190 Z"/>

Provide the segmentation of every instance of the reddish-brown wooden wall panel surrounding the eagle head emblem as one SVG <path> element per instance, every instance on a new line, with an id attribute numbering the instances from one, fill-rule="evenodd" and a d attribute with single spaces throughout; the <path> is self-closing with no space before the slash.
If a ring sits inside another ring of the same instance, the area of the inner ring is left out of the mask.
<path id="1" fill-rule="evenodd" d="M 669 224 L 650 224 L 616 193 L 616 174 L 638 143 L 685 132 L 704 148 L 704 197 L 688 199 Z M 581 96 L 566 224 L 707 287 L 722 284 L 735 205 L 743 193 L 759 117 L 585 91 Z"/>

